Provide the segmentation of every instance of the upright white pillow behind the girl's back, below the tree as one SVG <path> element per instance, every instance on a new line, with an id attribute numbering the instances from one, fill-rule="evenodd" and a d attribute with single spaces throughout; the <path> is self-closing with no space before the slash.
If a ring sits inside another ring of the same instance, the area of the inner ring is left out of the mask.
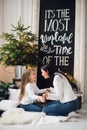
<path id="1" fill-rule="evenodd" d="M 18 100 L 20 89 L 9 88 L 9 100 Z"/>

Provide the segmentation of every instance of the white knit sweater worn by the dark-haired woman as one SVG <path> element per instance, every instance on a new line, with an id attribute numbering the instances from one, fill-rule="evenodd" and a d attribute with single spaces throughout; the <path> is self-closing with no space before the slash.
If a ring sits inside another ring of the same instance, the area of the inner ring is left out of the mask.
<path id="1" fill-rule="evenodd" d="M 53 86 L 54 88 L 51 88 L 47 99 L 60 100 L 62 103 L 66 103 L 77 98 L 69 81 L 64 75 L 57 73 L 53 79 Z"/>

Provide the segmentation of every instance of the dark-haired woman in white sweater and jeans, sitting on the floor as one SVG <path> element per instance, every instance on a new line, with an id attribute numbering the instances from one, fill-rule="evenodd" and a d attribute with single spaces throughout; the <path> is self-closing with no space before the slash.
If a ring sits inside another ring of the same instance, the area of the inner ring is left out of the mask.
<path id="1" fill-rule="evenodd" d="M 56 116 L 67 116 L 70 112 L 76 111 L 79 102 L 67 78 L 59 72 L 54 72 L 50 65 L 44 65 L 41 73 L 45 79 L 53 79 L 53 88 L 50 88 L 50 93 L 44 94 L 44 97 L 52 102 L 44 106 L 42 111 L 47 115 Z"/>

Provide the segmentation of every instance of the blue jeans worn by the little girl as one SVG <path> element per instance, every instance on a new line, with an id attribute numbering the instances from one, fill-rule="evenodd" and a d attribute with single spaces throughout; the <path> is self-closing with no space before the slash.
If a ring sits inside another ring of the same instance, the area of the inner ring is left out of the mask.
<path id="1" fill-rule="evenodd" d="M 20 104 L 20 108 L 23 108 L 25 111 L 33 111 L 33 112 L 41 112 L 42 111 L 42 107 L 35 105 L 33 103 L 27 104 L 27 105 Z"/>

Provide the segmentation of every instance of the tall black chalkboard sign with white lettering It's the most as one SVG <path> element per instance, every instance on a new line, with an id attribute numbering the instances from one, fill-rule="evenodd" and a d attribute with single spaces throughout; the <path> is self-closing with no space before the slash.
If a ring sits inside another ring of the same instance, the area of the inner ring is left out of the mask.
<path id="1" fill-rule="evenodd" d="M 39 59 L 37 84 L 47 86 L 41 77 L 42 64 L 52 64 L 73 75 L 75 39 L 75 0 L 40 0 Z"/>

